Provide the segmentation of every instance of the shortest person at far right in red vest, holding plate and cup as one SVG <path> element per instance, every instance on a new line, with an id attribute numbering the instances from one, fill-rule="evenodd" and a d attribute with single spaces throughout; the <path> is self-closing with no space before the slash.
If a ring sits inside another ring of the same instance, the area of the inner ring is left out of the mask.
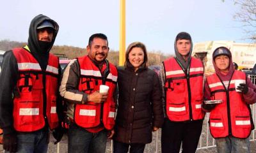
<path id="1" fill-rule="evenodd" d="M 232 65 L 232 55 L 226 47 L 212 54 L 215 73 L 205 82 L 207 100 L 220 104 L 203 105 L 210 113 L 209 127 L 220 153 L 250 152 L 249 136 L 254 128 L 250 104 L 256 102 L 256 87 L 242 71 Z M 243 82 L 236 87 L 236 82 Z"/>

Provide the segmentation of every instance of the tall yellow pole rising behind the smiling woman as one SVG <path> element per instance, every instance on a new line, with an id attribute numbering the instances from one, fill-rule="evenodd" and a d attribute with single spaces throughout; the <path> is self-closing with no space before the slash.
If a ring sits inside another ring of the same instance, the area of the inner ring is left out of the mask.
<path id="1" fill-rule="evenodd" d="M 119 41 L 119 65 L 125 61 L 125 0 L 120 0 L 120 41 Z"/>

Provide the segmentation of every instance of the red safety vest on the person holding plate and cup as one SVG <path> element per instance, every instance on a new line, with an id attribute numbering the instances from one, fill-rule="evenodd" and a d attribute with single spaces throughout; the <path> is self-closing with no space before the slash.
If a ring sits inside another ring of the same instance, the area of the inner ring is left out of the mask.
<path id="1" fill-rule="evenodd" d="M 211 99 L 223 100 L 223 103 L 216 105 L 210 113 L 209 126 L 214 138 L 223 138 L 229 135 L 247 138 L 252 131 L 253 121 L 250 106 L 244 102 L 241 92 L 236 92 L 236 80 L 246 81 L 246 75 L 235 70 L 228 90 L 216 73 L 207 77 Z"/>

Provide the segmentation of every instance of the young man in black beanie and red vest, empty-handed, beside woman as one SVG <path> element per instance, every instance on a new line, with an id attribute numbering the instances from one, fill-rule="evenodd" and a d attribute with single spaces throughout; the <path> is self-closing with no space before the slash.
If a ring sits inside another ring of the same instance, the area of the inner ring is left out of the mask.
<path id="1" fill-rule="evenodd" d="M 175 57 L 163 62 L 166 117 L 162 128 L 162 152 L 195 152 L 202 131 L 204 66 L 191 57 L 188 33 L 175 39 Z"/>

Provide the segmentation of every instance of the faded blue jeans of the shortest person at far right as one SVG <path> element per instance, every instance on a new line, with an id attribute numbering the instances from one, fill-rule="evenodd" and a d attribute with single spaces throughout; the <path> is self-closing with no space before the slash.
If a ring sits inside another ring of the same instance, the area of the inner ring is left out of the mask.
<path id="1" fill-rule="evenodd" d="M 250 153 L 249 138 L 241 139 L 227 136 L 225 138 L 216 138 L 218 153 Z"/>

